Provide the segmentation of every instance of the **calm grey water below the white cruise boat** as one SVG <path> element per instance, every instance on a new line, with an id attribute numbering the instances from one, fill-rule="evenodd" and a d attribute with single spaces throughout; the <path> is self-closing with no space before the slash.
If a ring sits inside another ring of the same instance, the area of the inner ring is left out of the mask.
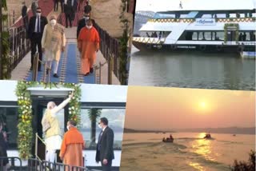
<path id="1" fill-rule="evenodd" d="M 133 46 L 129 85 L 255 90 L 255 60 L 238 54 L 141 52 Z"/>

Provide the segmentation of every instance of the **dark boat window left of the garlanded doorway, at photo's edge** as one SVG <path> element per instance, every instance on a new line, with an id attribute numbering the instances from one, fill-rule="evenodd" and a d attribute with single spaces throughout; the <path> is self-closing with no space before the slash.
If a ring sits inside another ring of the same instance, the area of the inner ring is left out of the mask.
<path id="1" fill-rule="evenodd" d="M 2 131 L 6 131 L 9 149 L 17 148 L 18 137 L 18 107 L 0 107 L 0 122 Z"/>

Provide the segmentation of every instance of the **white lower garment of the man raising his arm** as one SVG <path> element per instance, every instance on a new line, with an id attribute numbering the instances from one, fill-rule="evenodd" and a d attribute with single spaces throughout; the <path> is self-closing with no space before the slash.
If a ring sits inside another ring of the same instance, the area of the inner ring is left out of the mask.
<path id="1" fill-rule="evenodd" d="M 56 150 L 61 149 L 62 137 L 54 135 L 46 138 L 46 161 L 56 161 Z"/>

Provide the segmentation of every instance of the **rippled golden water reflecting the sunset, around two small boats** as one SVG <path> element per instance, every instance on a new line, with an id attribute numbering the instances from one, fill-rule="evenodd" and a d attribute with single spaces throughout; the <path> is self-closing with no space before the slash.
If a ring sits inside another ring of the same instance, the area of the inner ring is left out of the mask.
<path id="1" fill-rule="evenodd" d="M 230 170 L 255 149 L 254 135 L 211 133 L 213 140 L 205 140 L 204 133 L 172 133 L 174 143 L 163 143 L 168 135 L 125 133 L 122 170 Z"/>

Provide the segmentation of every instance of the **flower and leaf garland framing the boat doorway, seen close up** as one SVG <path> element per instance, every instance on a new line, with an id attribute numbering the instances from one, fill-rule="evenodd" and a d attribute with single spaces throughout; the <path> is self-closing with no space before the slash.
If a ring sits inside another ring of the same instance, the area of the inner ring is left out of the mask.
<path id="1" fill-rule="evenodd" d="M 19 157 L 22 160 L 28 160 L 31 155 L 31 146 L 33 141 L 33 128 L 32 122 L 32 101 L 30 99 L 29 87 L 44 85 L 44 89 L 52 87 L 53 85 L 58 88 L 58 85 L 62 87 L 74 89 L 74 97 L 70 101 L 69 119 L 77 121 L 80 125 L 80 99 L 81 89 L 80 85 L 72 83 L 44 83 L 44 82 L 18 82 L 16 88 L 16 95 L 18 97 L 18 151 Z M 70 92 L 71 93 L 71 92 Z"/>

